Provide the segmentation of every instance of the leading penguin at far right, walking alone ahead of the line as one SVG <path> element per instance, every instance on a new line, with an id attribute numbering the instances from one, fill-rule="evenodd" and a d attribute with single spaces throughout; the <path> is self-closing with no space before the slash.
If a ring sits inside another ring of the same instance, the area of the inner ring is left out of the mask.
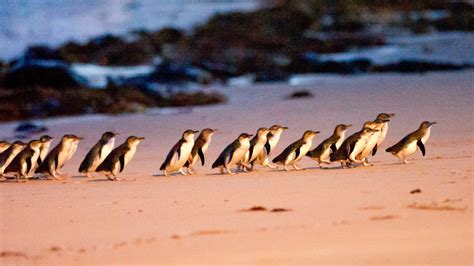
<path id="1" fill-rule="evenodd" d="M 415 153 L 417 150 L 417 146 L 418 148 L 420 148 L 421 154 L 425 156 L 425 144 L 430 138 L 431 126 L 435 124 L 436 122 L 424 121 L 423 123 L 421 123 L 420 127 L 416 131 L 408 134 L 397 144 L 386 149 L 385 151 L 398 157 L 398 159 L 400 159 L 400 162 L 403 162 L 405 164 L 410 163 L 406 160 L 406 157 Z"/>

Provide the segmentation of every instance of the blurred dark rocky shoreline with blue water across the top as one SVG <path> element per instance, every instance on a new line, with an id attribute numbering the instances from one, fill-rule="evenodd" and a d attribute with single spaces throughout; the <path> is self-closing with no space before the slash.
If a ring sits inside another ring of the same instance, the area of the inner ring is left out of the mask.
<path id="1" fill-rule="evenodd" d="M 453 0 L 1 0 L 0 121 L 224 103 L 222 86 L 474 64 Z"/>

